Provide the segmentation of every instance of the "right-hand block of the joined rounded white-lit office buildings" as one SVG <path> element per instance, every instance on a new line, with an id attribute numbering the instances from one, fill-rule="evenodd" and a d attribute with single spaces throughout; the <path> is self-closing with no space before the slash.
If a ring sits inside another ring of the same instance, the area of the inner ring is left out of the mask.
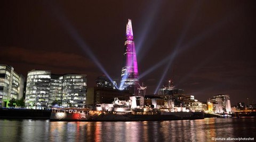
<path id="1" fill-rule="evenodd" d="M 86 75 L 63 75 L 62 106 L 83 108 L 86 104 Z"/>

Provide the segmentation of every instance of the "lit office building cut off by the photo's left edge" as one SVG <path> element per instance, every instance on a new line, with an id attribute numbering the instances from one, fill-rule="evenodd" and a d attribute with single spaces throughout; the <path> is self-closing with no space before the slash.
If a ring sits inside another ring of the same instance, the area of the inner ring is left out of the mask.
<path id="1" fill-rule="evenodd" d="M 7 107 L 9 101 L 23 96 L 24 77 L 17 74 L 14 68 L 0 65 L 0 108 Z"/>

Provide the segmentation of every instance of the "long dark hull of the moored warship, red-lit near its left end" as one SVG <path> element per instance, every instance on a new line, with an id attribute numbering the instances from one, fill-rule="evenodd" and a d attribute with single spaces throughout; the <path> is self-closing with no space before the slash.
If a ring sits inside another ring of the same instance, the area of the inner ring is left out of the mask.
<path id="1" fill-rule="evenodd" d="M 100 113 L 81 117 L 80 114 L 51 114 L 51 121 L 166 121 L 204 119 L 203 112 L 161 112 L 156 114 Z"/>

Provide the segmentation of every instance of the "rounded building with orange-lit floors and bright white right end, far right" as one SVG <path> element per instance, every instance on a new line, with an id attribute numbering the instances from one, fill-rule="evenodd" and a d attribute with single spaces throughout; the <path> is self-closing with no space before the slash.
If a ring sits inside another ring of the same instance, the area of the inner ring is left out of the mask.
<path id="1" fill-rule="evenodd" d="M 215 113 L 231 113 L 230 97 L 227 94 L 215 95 L 210 102 L 213 105 L 213 111 Z"/>

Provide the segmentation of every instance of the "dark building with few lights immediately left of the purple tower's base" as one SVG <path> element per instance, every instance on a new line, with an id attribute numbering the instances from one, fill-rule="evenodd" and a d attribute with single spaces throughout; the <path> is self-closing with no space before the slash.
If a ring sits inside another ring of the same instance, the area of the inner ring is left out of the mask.
<path id="1" fill-rule="evenodd" d="M 105 74 L 99 76 L 95 80 L 95 83 L 96 83 L 97 87 L 117 89 L 116 88 L 117 82 L 113 81 L 113 83 L 112 83 Z"/>

